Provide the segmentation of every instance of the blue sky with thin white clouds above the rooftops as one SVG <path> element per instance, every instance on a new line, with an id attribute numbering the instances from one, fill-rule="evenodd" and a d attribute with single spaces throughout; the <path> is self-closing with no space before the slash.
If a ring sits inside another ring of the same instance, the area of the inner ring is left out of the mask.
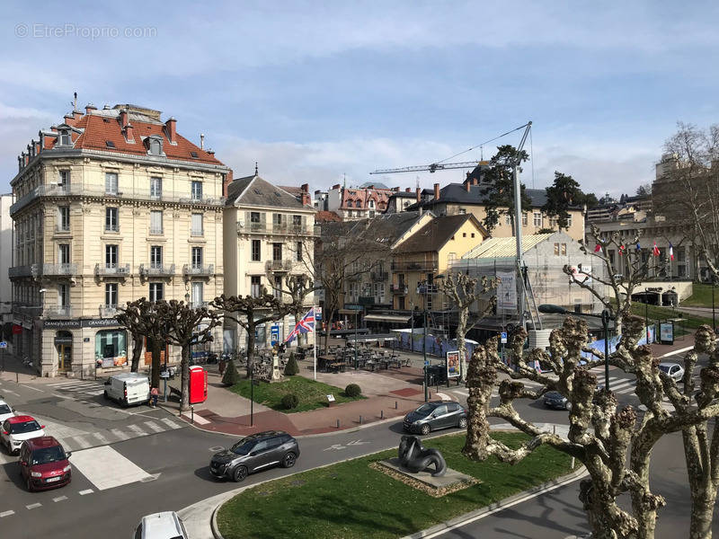
<path id="1" fill-rule="evenodd" d="M 0 191 L 40 128 L 135 103 L 205 134 L 235 177 L 414 188 L 434 163 L 532 121 L 522 172 L 633 194 L 677 122 L 717 121 L 719 3 L 4 3 Z M 489 158 L 521 130 L 458 155 Z"/>

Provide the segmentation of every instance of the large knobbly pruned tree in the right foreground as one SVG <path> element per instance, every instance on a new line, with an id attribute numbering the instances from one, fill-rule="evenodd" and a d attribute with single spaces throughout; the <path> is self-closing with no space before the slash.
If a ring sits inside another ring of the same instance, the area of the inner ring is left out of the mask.
<path id="1" fill-rule="evenodd" d="M 707 443 L 709 450 L 706 458 L 697 459 L 689 454 L 687 457 L 690 473 L 695 474 L 702 486 L 701 492 L 706 493 L 703 504 L 692 506 L 690 536 L 710 537 L 714 503 L 707 502 L 712 499 L 708 494 L 711 489 L 715 492 L 716 482 L 714 478 L 707 479 L 700 474 L 716 472 L 713 467 L 716 459 L 712 461 L 710 455 L 715 454 L 711 446 L 719 447 L 719 441 L 706 442 L 702 433 L 706 422 L 719 415 L 719 403 L 715 401 L 719 396 L 717 363 L 713 359 L 709 367 L 702 369 L 700 392 L 692 395 L 689 385 L 688 390 L 679 393 L 677 384 L 659 369 L 651 349 L 636 345 L 643 333 L 643 321 L 627 316 L 624 327 L 622 339 L 609 363 L 635 376 L 636 396 L 646 410 L 643 417 L 638 418 L 632 406 L 619 408 L 614 393 L 598 388 L 590 368 L 603 361 L 602 355 L 586 348 L 586 323 L 570 317 L 564 320 L 562 328 L 552 331 L 548 353 L 534 349 L 523 354 L 527 332 L 519 329 L 512 333 L 510 356 L 517 370 L 502 362 L 496 338 L 475 348 L 467 376 L 469 422 L 463 453 L 473 460 L 495 455 L 510 464 L 518 463 L 544 445 L 572 455 L 590 474 L 589 479 L 580 484 L 579 498 L 587 513 L 592 536 L 595 539 L 652 539 L 657 511 L 666 504 L 666 500 L 652 493 L 650 488 L 652 447 L 667 434 L 682 431 L 685 437 L 691 437 L 696 432 L 697 453 L 706 451 Z M 711 349 L 709 342 L 713 342 L 710 329 L 700 329 L 694 353 L 706 353 Z M 590 358 L 587 354 L 591 354 Z M 712 358 L 715 358 L 714 352 Z M 540 373 L 531 367 L 535 360 L 548 365 L 552 373 Z M 685 384 L 690 384 L 695 365 L 696 358 L 685 360 L 689 373 L 685 376 Z M 540 384 L 540 389 L 529 390 L 523 380 Z M 494 387 L 499 389 L 500 402 L 492 407 L 490 400 Z M 515 400 L 536 401 L 548 391 L 561 393 L 567 399 L 569 428 L 565 437 L 540 429 L 520 417 L 514 408 Z M 662 406 L 665 394 L 674 404 L 673 411 Z M 490 437 L 490 417 L 507 421 L 530 439 L 519 447 L 506 446 L 493 439 Z M 618 497 L 625 494 L 631 499 L 629 507 L 617 503 Z M 695 533 L 695 529 L 701 531 Z"/>

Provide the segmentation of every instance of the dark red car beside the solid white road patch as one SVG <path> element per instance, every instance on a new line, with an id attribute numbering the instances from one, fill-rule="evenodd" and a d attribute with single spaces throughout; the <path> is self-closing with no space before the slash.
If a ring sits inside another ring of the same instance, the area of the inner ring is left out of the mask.
<path id="1" fill-rule="evenodd" d="M 54 489 L 72 480 L 72 471 L 60 442 L 51 436 L 31 438 L 20 448 L 20 473 L 28 490 Z"/>

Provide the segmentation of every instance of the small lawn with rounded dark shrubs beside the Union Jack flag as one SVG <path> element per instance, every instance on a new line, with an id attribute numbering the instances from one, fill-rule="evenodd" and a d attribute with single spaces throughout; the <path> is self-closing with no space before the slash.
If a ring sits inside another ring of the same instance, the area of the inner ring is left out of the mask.
<path id="1" fill-rule="evenodd" d="M 237 384 L 230 387 L 229 390 L 249 399 L 250 380 L 240 380 Z M 299 400 L 297 408 L 286 410 L 285 407 L 282 406 L 282 397 L 288 393 L 297 395 L 297 399 Z M 335 402 L 337 403 L 357 401 L 366 398 L 361 395 L 359 397 L 348 397 L 344 394 L 344 389 L 323 384 L 322 382 L 316 382 L 304 376 L 286 376 L 285 380 L 275 384 L 261 382 L 259 385 L 254 386 L 253 396 L 254 402 L 264 404 L 272 410 L 291 413 L 324 408 L 327 406 L 327 395 L 329 394 L 334 395 Z"/>

